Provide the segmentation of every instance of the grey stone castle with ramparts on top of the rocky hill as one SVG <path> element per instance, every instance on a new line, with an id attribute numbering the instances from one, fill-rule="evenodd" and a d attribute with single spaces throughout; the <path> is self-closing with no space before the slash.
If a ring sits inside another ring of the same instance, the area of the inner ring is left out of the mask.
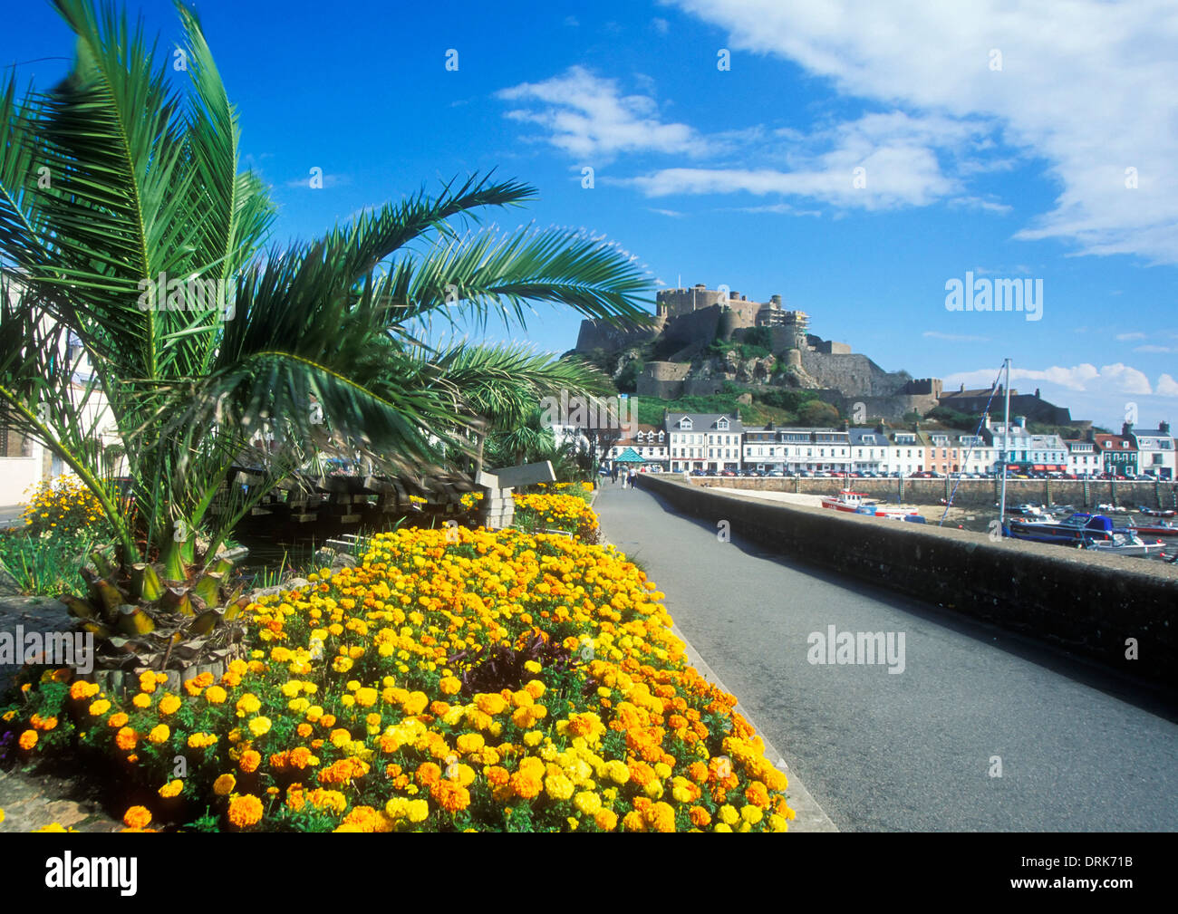
<path id="1" fill-rule="evenodd" d="M 661 399 L 719 393 L 726 382 L 788 384 L 814 390 L 843 415 L 900 419 L 915 411 L 921 416 L 938 405 L 960 412 L 981 412 L 990 391 L 960 390 L 945 393 L 940 378 L 913 378 L 906 371 L 885 371 L 846 343 L 822 339 L 809 332 L 809 314 L 786 309 L 781 296 L 768 302 L 749 300 L 728 286 L 708 289 L 696 283 L 687 289 L 657 292 L 654 322 L 649 327 L 621 329 L 603 320 L 582 320 L 576 352 L 594 350 L 621 353 L 653 349 L 643 364 L 637 393 Z M 755 331 L 755 332 L 754 332 Z M 707 352 L 714 342 L 743 343 L 753 336 L 759 345 L 768 340 L 772 359 L 724 359 Z M 783 367 L 783 371 L 781 370 Z M 1039 397 L 1011 391 L 1012 409 L 1032 422 L 1066 424 L 1068 410 Z M 979 399 L 980 397 L 980 399 Z M 980 404 L 980 405 L 979 405 Z"/>

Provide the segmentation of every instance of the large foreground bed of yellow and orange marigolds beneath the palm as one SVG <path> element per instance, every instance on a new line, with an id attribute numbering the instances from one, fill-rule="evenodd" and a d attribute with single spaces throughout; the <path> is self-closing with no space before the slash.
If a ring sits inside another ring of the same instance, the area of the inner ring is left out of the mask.
<path id="1" fill-rule="evenodd" d="M 382 534 L 359 567 L 263 597 L 252 660 L 219 682 L 170 695 L 148 673 L 119 702 L 47 673 L 0 730 L 25 757 L 123 766 L 150 796 L 128 830 L 787 829 L 785 775 L 642 571 L 457 532 Z"/>

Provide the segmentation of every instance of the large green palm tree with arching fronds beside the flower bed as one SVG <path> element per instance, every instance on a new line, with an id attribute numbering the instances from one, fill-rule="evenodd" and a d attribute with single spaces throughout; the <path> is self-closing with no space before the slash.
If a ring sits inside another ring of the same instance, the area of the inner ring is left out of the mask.
<path id="1" fill-rule="evenodd" d="M 118 550 L 92 557 L 88 611 L 125 634 L 176 622 L 160 597 L 181 612 L 225 604 L 225 537 L 330 437 L 389 472 L 419 472 L 468 453 L 497 399 L 598 384 L 580 365 L 529 365 L 512 350 L 431 349 L 432 319 L 496 311 L 523 325 L 531 302 L 648 319 L 637 298 L 648 279 L 615 245 L 477 228 L 481 211 L 535 197 L 492 175 L 264 250 L 274 207 L 239 170 L 237 113 L 196 14 L 177 4 L 180 93 L 141 24 L 86 0 L 54 5 L 78 37 L 71 74 L 22 97 L 13 78 L 0 93 L 0 408 L 101 502 Z M 79 385 L 82 362 L 93 372 Z M 507 372 L 529 367 L 507 392 Z M 134 512 L 102 475 L 85 409 L 99 397 Z M 277 445 L 265 448 L 266 482 L 214 515 L 259 433 Z"/>

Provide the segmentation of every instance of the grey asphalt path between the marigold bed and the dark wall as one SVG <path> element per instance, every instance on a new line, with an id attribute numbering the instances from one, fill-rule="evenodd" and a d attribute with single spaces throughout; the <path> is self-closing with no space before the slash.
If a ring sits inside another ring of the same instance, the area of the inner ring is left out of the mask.
<path id="1" fill-rule="evenodd" d="M 766 555 L 739 530 L 721 542 L 715 526 L 641 489 L 607 481 L 594 506 L 609 541 L 666 592 L 684 636 L 841 830 L 1178 828 L 1172 696 Z M 810 663 L 809 636 L 829 625 L 904 632 L 904 671 Z M 1097 852 L 1078 842 L 1058 853 Z"/>

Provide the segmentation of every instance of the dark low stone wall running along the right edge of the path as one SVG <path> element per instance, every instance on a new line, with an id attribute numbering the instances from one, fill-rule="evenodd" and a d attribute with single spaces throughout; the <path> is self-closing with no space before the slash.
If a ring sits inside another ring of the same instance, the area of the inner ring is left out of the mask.
<path id="1" fill-rule="evenodd" d="M 839 485 L 838 479 L 813 482 Z M 638 485 L 683 514 L 708 523 L 727 521 L 734 536 L 781 555 L 1178 688 L 1173 565 L 777 504 L 669 476 L 643 473 Z M 1129 638 L 1136 638 L 1138 660 L 1126 658 Z"/>

